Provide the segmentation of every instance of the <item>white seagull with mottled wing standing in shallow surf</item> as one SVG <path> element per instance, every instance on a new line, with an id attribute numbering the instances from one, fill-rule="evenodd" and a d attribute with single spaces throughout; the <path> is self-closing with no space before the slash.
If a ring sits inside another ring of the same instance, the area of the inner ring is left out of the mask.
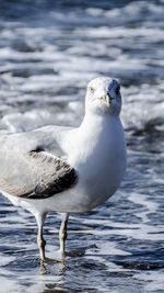
<path id="1" fill-rule="evenodd" d="M 108 77 L 89 82 L 79 127 L 48 125 L 0 134 L 0 192 L 37 222 L 39 258 L 45 261 L 43 226 L 48 212 L 62 213 L 60 253 L 65 256 L 70 213 L 107 201 L 126 170 L 120 84 Z"/>

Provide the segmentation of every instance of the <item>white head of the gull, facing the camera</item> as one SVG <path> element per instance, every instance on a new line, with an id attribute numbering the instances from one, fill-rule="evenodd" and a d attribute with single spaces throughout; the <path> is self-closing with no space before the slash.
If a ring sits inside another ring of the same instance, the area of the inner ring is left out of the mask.
<path id="1" fill-rule="evenodd" d="M 85 111 L 119 115 L 121 109 L 120 84 L 116 79 L 99 77 L 87 84 Z"/>

